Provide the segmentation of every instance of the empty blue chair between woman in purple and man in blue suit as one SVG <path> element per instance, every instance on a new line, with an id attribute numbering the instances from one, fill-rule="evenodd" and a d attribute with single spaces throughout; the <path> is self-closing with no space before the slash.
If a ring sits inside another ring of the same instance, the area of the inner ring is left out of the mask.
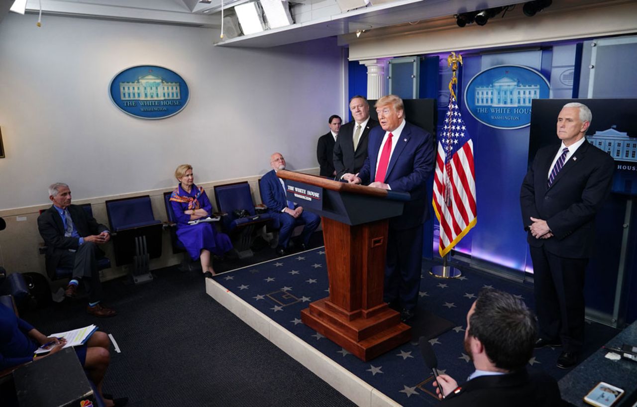
<path id="1" fill-rule="evenodd" d="M 215 185 L 214 190 L 217 208 L 223 213 L 222 227 L 233 241 L 239 258 L 252 257 L 255 230 L 269 224 L 271 216 L 269 213 L 256 213 L 248 182 Z M 244 211 L 245 216 L 238 216 L 239 211 Z"/>

